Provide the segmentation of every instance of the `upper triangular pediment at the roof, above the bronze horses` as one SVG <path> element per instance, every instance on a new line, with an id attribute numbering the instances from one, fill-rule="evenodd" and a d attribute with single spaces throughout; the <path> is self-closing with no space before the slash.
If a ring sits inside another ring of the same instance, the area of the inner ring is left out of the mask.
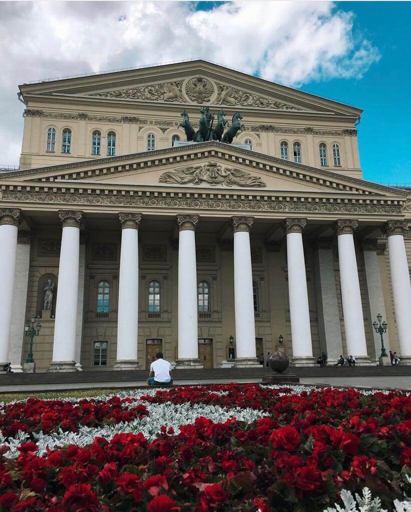
<path id="1" fill-rule="evenodd" d="M 281 86 L 203 60 L 20 86 L 24 97 L 71 96 L 97 101 L 210 105 L 358 117 L 360 109 Z"/>

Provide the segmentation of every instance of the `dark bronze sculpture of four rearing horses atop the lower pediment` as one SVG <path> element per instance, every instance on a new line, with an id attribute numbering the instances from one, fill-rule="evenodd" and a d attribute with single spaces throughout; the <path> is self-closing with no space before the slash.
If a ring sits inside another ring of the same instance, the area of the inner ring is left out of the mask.
<path id="1" fill-rule="evenodd" d="M 225 142 L 226 144 L 231 144 L 233 142 L 234 137 L 241 130 L 245 130 L 245 126 L 241 124 L 240 119 L 242 119 L 242 115 L 239 112 L 236 112 L 232 118 L 230 128 L 224 133 L 225 126 L 228 124 L 227 119 L 224 119 L 224 116 L 227 115 L 227 112 L 223 110 L 218 111 L 217 113 L 217 122 L 215 126 L 214 119 L 215 116 L 210 112 L 210 108 L 208 106 L 203 106 L 200 110 L 201 117 L 198 121 L 198 130 L 195 131 L 193 126 L 190 124 L 189 114 L 187 110 L 183 110 L 181 112 L 181 116 L 184 118 L 180 123 L 180 126 L 186 132 L 186 137 L 188 142 L 204 142 L 207 140 L 218 140 L 219 142 Z"/>

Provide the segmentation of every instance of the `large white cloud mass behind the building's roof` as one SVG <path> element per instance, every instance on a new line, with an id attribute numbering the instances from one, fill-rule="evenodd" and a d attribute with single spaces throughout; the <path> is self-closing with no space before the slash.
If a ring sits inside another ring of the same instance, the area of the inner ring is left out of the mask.
<path id="1" fill-rule="evenodd" d="M 300 87 L 361 78 L 378 50 L 332 2 L 0 2 L 0 163 L 17 163 L 17 84 L 203 57 Z"/>

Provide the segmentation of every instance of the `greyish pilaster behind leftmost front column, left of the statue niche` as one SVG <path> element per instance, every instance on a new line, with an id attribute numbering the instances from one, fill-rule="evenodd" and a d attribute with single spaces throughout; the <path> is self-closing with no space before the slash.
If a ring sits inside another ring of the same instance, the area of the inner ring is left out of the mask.
<path id="1" fill-rule="evenodd" d="M 13 311 L 11 314 L 11 332 L 8 360 L 14 373 L 23 372 L 22 356 L 26 324 L 27 291 L 29 287 L 30 247 L 33 233 L 18 231 L 16 275 L 14 281 Z"/>

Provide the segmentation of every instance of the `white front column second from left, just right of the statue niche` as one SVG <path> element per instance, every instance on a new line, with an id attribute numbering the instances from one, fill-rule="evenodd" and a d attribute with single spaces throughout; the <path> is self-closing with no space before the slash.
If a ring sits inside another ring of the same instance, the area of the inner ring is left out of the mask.
<path id="1" fill-rule="evenodd" d="M 81 211 L 60 210 L 61 233 L 53 360 L 49 372 L 75 372 Z"/>

